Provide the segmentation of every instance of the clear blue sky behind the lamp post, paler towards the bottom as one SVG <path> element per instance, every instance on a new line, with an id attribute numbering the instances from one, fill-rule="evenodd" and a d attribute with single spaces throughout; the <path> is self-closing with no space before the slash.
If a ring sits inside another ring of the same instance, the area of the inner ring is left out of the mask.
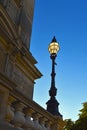
<path id="1" fill-rule="evenodd" d="M 51 84 L 48 45 L 53 36 L 60 44 L 56 58 L 59 111 L 64 119 L 78 118 L 87 101 L 87 1 L 36 0 L 30 51 L 43 77 L 36 80 L 34 100 L 46 108 Z"/>

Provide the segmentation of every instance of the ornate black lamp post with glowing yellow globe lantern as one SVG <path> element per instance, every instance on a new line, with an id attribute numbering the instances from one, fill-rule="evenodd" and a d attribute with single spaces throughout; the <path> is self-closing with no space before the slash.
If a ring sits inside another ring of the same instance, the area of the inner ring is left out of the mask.
<path id="1" fill-rule="evenodd" d="M 49 44 L 48 50 L 50 52 L 50 58 L 52 60 L 52 73 L 51 73 L 51 88 L 49 90 L 50 100 L 48 100 L 47 104 L 47 111 L 53 115 L 62 116 L 58 110 L 58 101 L 56 100 L 55 96 L 57 94 L 57 88 L 55 87 L 55 59 L 57 56 L 57 52 L 59 51 L 60 47 L 57 43 L 55 37 L 53 37 L 51 43 Z"/>

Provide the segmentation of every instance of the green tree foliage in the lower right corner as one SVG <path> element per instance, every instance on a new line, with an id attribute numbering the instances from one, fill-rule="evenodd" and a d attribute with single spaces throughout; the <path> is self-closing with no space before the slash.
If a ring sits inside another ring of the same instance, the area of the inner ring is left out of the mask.
<path id="1" fill-rule="evenodd" d="M 83 103 L 79 118 L 75 122 L 71 119 L 65 120 L 64 130 L 87 130 L 87 102 Z"/>

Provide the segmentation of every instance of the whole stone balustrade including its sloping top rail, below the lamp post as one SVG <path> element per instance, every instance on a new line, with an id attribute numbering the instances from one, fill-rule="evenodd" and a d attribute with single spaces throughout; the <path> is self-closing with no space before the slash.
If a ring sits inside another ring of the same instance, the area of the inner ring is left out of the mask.
<path id="1" fill-rule="evenodd" d="M 58 117 L 52 116 L 34 101 L 27 101 L 24 102 L 12 95 L 8 97 L 5 121 L 11 127 L 20 130 L 58 130 L 52 128 L 57 125 Z"/>

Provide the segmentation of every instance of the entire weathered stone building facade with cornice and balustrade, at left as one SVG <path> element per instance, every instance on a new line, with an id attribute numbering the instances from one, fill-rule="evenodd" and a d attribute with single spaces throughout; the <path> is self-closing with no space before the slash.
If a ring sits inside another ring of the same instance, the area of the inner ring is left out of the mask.
<path id="1" fill-rule="evenodd" d="M 63 119 L 33 101 L 42 76 L 29 51 L 34 0 L 0 0 L 0 129 L 62 130 Z"/>

